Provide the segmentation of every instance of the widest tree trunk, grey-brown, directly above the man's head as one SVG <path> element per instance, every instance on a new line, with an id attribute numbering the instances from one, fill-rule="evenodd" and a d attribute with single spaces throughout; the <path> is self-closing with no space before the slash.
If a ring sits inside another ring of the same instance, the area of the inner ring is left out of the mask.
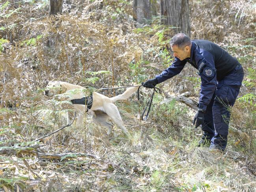
<path id="1" fill-rule="evenodd" d="M 190 34 L 189 0 L 160 0 L 161 23 L 172 25 L 175 34 Z"/>

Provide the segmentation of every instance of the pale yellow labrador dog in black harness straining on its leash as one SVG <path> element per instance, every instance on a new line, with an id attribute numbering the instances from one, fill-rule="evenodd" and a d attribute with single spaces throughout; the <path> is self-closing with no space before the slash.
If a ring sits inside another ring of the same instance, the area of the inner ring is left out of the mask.
<path id="1" fill-rule="evenodd" d="M 118 111 L 118 108 L 114 104 L 115 101 L 128 99 L 135 91 L 137 87 L 131 87 L 126 89 L 121 95 L 116 97 L 106 97 L 100 93 L 93 92 L 92 98 L 93 102 L 91 105 L 91 110 L 94 112 L 92 117 L 96 124 L 105 126 L 108 128 L 107 134 L 111 133 L 113 125 L 108 123 L 108 119 L 111 118 L 114 123 L 125 133 L 127 137 L 130 137 L 129 132 L 125 129 L 123 125 L 122 118 Z M 80 91 L 79 91 L 80 90 Z M 85 88 L 79 85 L 70 84 L 62 81 L 50 81 L 45 88 L 45 95 L 52 97 L 56 94 L 67 94 L 65 100 L 71 101 L 73 99 L 81 99 L 85 97 Z M 76 127 L 82 124 L 84 113 L 86 112 L 86 106 L 83 104 L 73 104 L 74 109 L 78 112 L 78 119 L 76 122 Z M 71 123 L 69 119 L 69 114 L 67 113 L 67 124 Z"/>

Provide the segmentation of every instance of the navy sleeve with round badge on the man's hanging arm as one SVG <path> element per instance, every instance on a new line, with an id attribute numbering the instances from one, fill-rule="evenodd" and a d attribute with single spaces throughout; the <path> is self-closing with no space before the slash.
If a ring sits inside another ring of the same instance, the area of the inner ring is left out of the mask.
<path id="1" fill-rule="evenodd" d="M 201 77 L 201 90 L 199 108 L 206 111 L 217 85 L 216 69 L 214 59 L 208 52 L 203 52 L 202 58 L 198 60 L 198 70 Z"/>

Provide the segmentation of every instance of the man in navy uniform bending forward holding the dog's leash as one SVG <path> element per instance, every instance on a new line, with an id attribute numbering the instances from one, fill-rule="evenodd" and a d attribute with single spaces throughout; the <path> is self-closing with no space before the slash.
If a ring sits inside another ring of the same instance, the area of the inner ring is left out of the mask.
<path id="1" fill-rule="evenodd" d="M 191 40 L 185 34 L 172 38 L 171 48 L 175 60 L 161 74 L 143 83 L 146 88 L 178 75 L 188 62 L 198 69 L 201 90 L 198 112 L 193 124 L 201 125 L 204 134 L 199 145 L 210 144 L 210 149 L 224 151 L 227 145 L 230 108 L 239 93 L 243 67 L 224 49 L 211 41 Z"/>

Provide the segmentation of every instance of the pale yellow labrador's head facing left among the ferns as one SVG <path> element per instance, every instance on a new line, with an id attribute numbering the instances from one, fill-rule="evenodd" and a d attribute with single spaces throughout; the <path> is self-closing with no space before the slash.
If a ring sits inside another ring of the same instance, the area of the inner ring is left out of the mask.
<path id="1" fill-rule="evenodd" d="M 64 82 L 61 81 L 50 81 L 45 88 L 45 95 L 52 97 L 56 94 L 65 93 L 67 90 Z"/>

